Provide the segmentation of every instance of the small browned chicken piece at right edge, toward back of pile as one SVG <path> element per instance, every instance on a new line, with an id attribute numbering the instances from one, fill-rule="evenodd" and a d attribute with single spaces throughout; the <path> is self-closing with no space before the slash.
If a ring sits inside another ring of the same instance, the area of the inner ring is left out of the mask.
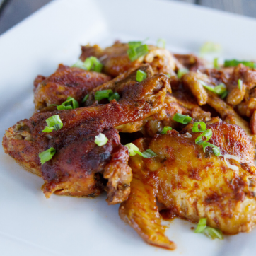
<path id="1" fill-rule="evenodd" d="M 243 87 L 238 88 L 238 79 L 243 81 Z M 246 91 L 256 86 L 256 70 L 250 69 L 243 64 L 239 64 L 233 70 L 231 78 L 228 80 L 228 97 L 226 99 L 228 104 L 238 105 L 245 98 Z"/>

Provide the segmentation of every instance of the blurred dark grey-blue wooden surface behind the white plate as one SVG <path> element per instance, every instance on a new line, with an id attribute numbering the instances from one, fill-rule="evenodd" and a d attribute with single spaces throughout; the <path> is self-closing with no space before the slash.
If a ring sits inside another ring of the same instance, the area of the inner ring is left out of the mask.
<path id="1" fill-rule="evenodd" d="M 53 0 L 0 0 L 0 35 Z M 70 0 L 71 1 L 71 0 Z M 107 0 L 106 0 L 107 1 Z M 158 0 L 163 1 L 163 0 Z M 256 0 L 165 0 L 182 1 L 256 18 Z M 120 4 L 120 0 L 117 0 Z"/>

